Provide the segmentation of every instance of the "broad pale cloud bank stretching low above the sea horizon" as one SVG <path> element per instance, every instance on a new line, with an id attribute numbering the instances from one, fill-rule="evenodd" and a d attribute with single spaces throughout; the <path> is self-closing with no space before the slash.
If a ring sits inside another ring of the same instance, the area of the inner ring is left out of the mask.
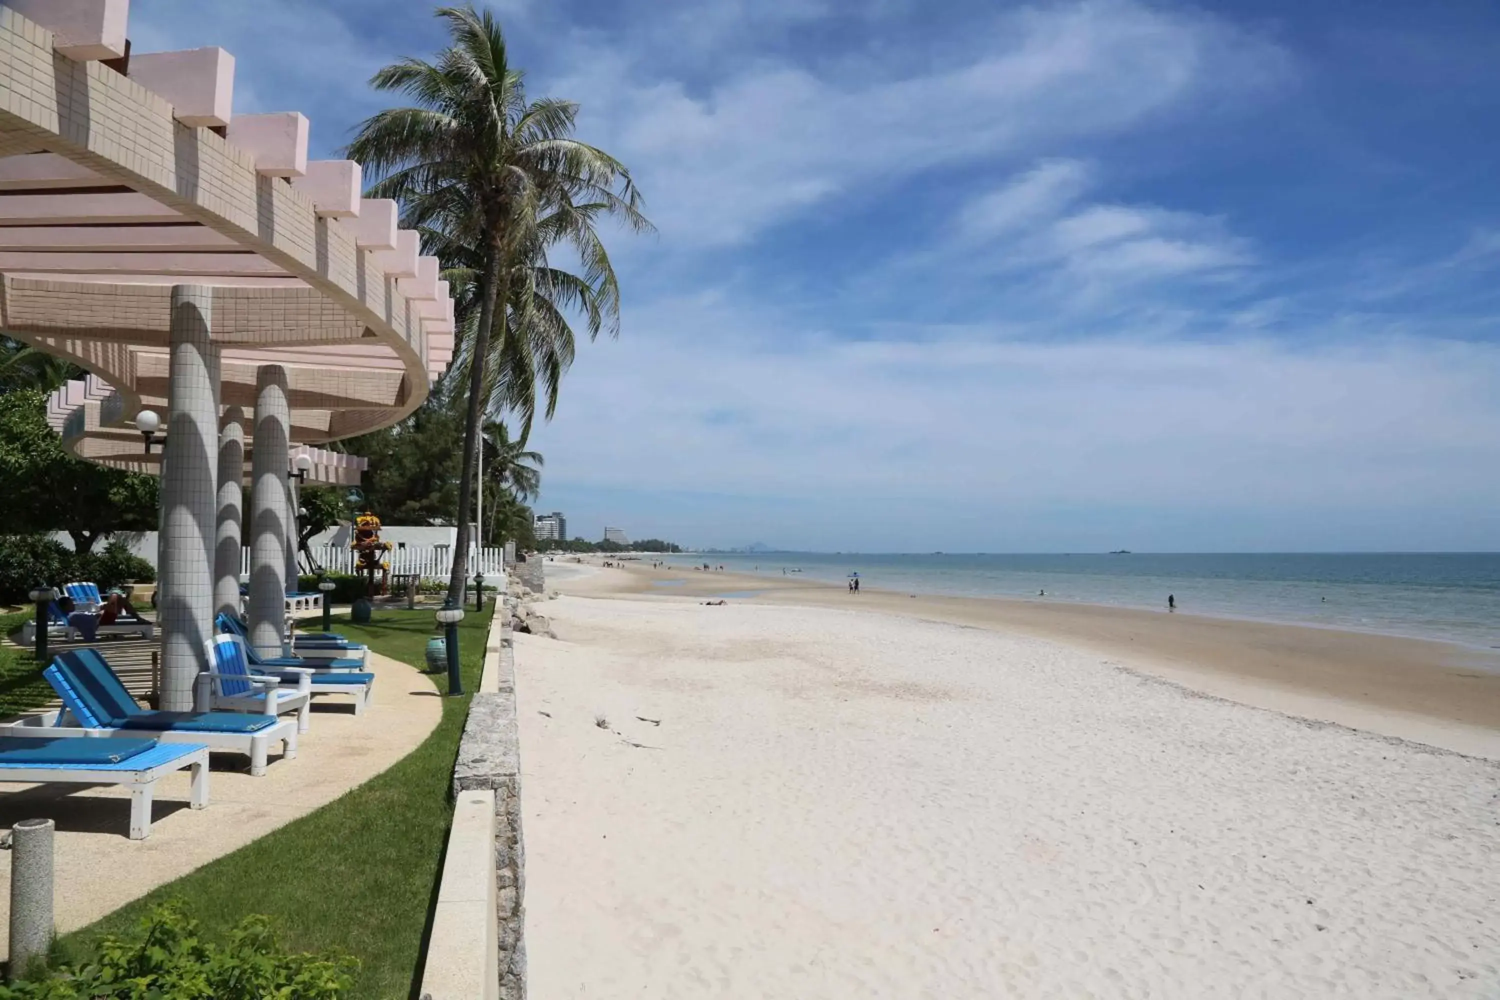
<path id="1" fill-rule="evenodd" d="M 742 322 L 660 303 L 590 351 L 538 432 L 549 487 L 1434 513 L 1482 510 L 1500 489 L 1497 345 L 1142 330 L 777 349 Z"/>

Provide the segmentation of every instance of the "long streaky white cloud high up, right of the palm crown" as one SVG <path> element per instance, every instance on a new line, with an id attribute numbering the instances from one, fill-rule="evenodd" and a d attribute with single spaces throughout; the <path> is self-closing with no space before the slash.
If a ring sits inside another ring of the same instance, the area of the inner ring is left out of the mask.
<path id="1" fill-rule="evenodd" d="M 926 73 L 759 61 L 706 88 L 586 39 L 552 88 L 582 100 L 584 133 L 632 165 L 666 238 L 734 244 L 836 195 L 1114 135 L 1258 87 L 1286 61 L 1216 21 L 1134 3 L 1026 7 L 976 34 Z"/>

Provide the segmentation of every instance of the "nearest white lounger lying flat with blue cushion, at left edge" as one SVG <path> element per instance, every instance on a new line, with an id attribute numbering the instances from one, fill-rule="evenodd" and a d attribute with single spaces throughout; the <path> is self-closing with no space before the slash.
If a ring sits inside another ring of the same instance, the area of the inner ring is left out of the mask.
<path id="1" fill-rule="evenodd" d="M 74 736 L 0 736 L 0 781 L 130 786 L 130 840 L 152 832 L 152 793 L 158 778 L 192 769 L 188 804 L 208 805 L 208 748 L 154 739 L 78 739 Z"/>

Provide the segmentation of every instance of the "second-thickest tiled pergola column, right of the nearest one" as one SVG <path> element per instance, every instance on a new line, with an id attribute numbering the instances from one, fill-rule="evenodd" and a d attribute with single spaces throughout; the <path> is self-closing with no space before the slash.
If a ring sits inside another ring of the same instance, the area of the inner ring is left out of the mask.
<path id="1" fill-rule="evenodd" d="M 262 364 L 255 375 L 255 441 L 250 450 L 250 646 L 282 655 L 286 618 L 286 369 Z"/>

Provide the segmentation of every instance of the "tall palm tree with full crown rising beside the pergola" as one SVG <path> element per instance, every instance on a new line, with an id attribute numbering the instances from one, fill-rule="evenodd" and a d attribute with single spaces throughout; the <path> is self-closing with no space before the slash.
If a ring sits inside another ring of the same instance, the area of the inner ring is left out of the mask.
<path id="1" fill-rule="evenodd" d="M 422 229 L 429 250 L 474 274 L 472 297 L 460 303 L 470 306 L 465 318 L 472 316 L 466 354 L 482 360 L 468 366 L 462 526 L 470 520 L 490 391 L 506 405 L 518 400 L 530 427 L 537 378 L 555 385 L 572 360 L 572 328 L 566 343 L 558 340 L 562 312 L 582 312 L 590 336 L 618 331 L 620 286 L 594 223 L 614 217 L 638 232 L 651 223 L 640 214 L 630 171 L 572 138 L 578 105 L 526 99 L 489 10 L 438 7 L 436 16 L 447 21 L 452 43 L 435 63 L 404 58 L 370 78 L 376 90 L 405 93 L 417 106 L 366 118 L 348 156 L 381 177 L 370 195 L 400 201 L 404 223 Z M 548 265 L 546 252 L 556 244 L 570 247 L 579 274 Z M 531 301 L 528 289 L 536 289 Z M 520 319 L 514 330 L 512 316 Z M 555 388 L 549 414 L 550 403 Z M 448 577 L 454 601 L 466 570 L 468 547 L 459 546 Z"/>

